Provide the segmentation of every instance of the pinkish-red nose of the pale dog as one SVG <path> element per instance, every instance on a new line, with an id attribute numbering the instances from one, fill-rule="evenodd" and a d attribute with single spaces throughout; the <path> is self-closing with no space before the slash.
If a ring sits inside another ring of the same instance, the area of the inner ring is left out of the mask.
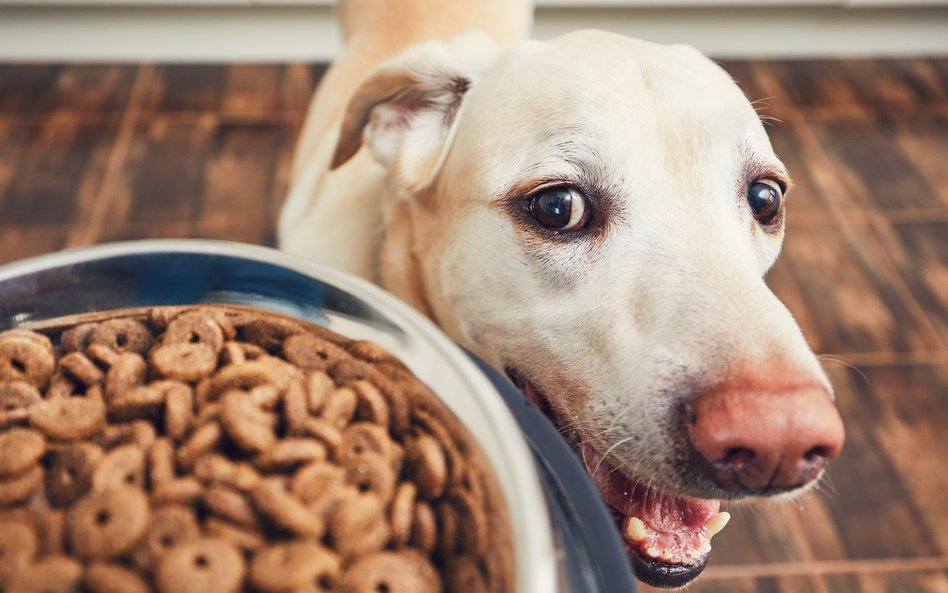
<path id="1" fill-rule="evenodd" d="M 816 479 L 843 448 L 843 421 L 829 393 L 729 385 L 701 394 L 687 410 L 695 450 L 711 477 L 735 493 L 770 494 Z"/>

